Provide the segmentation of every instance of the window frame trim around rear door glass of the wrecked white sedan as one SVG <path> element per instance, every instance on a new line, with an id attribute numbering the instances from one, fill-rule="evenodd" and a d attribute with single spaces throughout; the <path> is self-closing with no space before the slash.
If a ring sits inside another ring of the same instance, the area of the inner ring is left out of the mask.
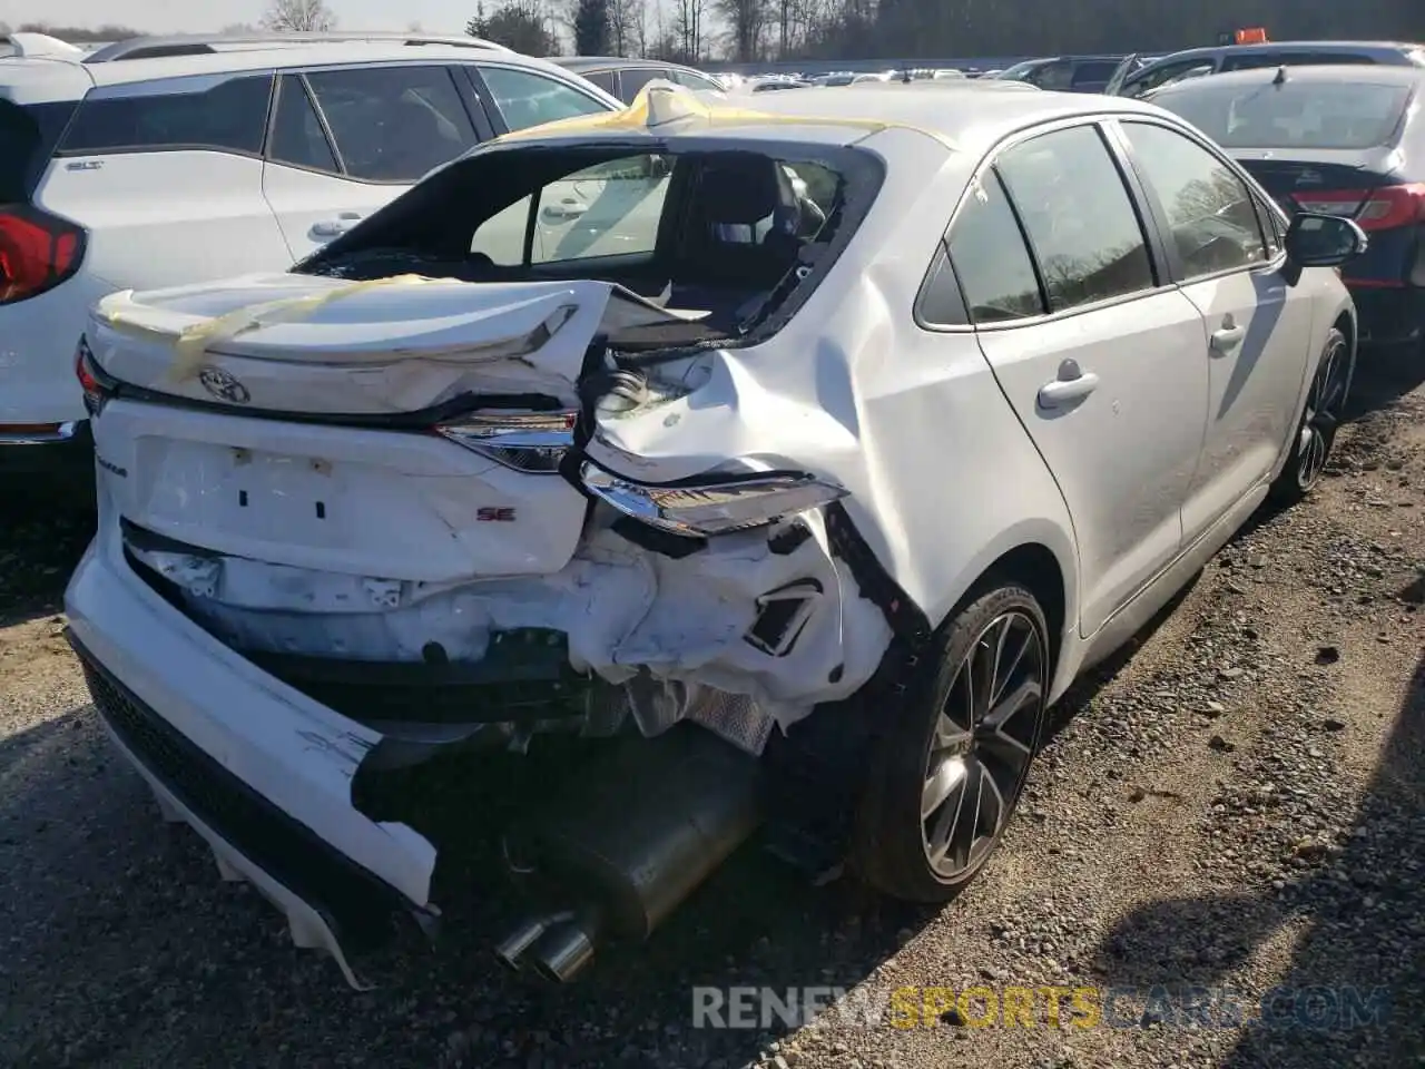
<path id="1" fill-rule="evenodd" d="M 1023 326 L 1039 325 L 1045 322 L 1057 322 L 1062 319 L 1067 319 L 1070 316 L 1097 312 L 1106 308 L 1114 308 L 1117 305 L 1127 304 L 1130 301 L 1141 301 L 1149 296 L 1156 296 L 1159 294 L 1166 294 L 1173 289 L 1180 289 L 1181 286 L 1178 282 L 1166 277 L 1170 274 L 1164 271 L 1164 259 L 1163 259 L 1164 255 L 1167 254 L 1167 245 L 1163 241 L 1163 234 L 1159 227 L 1157 217 L 1151 214 L 1150 200 L 1144 197 L 1143 187 L 1139 184 L 1136 172 L 1127 168 L 1126 161 L 1116 148 L 1113 137 L 1110 137 L 1106 128 L 1107 123 L 1112 120 L 1131 118 L 1131 117 L 1136 115 L 1131 114 L 1073 115 L 1069 118 L 1059 118 L 1049 123 L 1040 123 L 1036 125 L 1025 127 L 1003 137 L 985 154 L 980 162 L 975 167 L 975 172 L 970 177 L 970 181 L 965 184 L 965 190 L 960 192 L 960 198 L 955 204 L 955 211 L 950 214 L 949 225 L 945 227 L 945 231 L 942 234 L 942 244 L 945 245 L 946 249 L 949 249 L 950 231 L 955 227 L 955 220 L 959 218 L 959 214 L 965 207 L 965 202 L 969 200 L 970 191 L 975 188 L 975 184 L 980 180 L 980 177 L 986 171 L 998 165 L 1000 155 L 1003 155 L 1010 148 L 1019 144 L 1032 141 L 1036 137 L 1045 134 L 1053 134 L 1060 130 L 1070 130 L 1073 127 L 1084 127 L 1084 125 L 1096 127 L 1096 133 L 1103 141 L 1104 148 L 1107 150 L 1110 160 L 1113 160 L 1113 165 L 1117 168 L 1120 180 L 1123 181 L 1124 191 L 1129 195 L 1129 202 L 1133 205 L 1134 218 L 1137 218 L 1139 221 L 1139 228 L 1143 231 L 1144 247 L 1149 252 L 1149 268 L 1153 272 L 1153 281 L 1154 281 L 1154 285 L 1150 289 L 1136 289 L 1131 294 L 1117 294 L 1114 296 L 1106 296 L 1100 301 L 1092 301 L 1089 304 L 1074 305 L 1073 308 L 1064 308 L 1059 312 L 1046 311 L 1040 315 L 1026 315 L 1019 319 L 1002 319 L 992 324 L 932 324 L 925 321 L 921 315 L 922 295 L 931 285 L 933 277 L 935 258 L 932 257 L 931 264 L 926 268 L 925 275 L 921 281 L 921 286 L 916 289 L 915 304 L 912 306 L 912 318 L 915 321 L 915 325 L 919 326 L 921 329 L 932 331 L 935 334 L 979 334 L 982 331 L 1006 331 L 1006 329 L 1013 331 Z M 1174 128 L 1171 127 L 1171 124 L 1164 123 L 1163 125 Z M 1015 214 L 1015 222 L 1019 224 L 1020 237 L 1025 239 L 1025 247 L 1029 251 L 1030 264 L 1033 264 L 1035 268 L 1035 277 L 1039 279 L 1040 301 L 1043 304 L 1043 308 L 1047 309 L 1049 295 L 1047 292 L 1045 292 L 1043 288 L 1045 282 L 1043 282 L 1043 271 L 1039 265 L 1039 254 L 1035 249 L 1033 242 L 1029 239 L 1029 235 L 1025 232 L 1025 225 L 1020 221 L 1019 208 L 1017 205 L 1015 205 L 1013 194 L 1009 191 L 1007 185 L 1005 185 L 1003 188 L 1005 188 L 1005 197 L 1009 200 L 1010 210 Z M 952 271 L 955 268 L 953 259 L 950 261 L 950 268 Z M 956 275 L 956 282 L 959 284 L 959 272 L 956 271 L 955 275 Z M 960 294 L 963 299 L 963 285 L 960 288 Z M 966 302 L 966 308 L 969 302 Z"/>

